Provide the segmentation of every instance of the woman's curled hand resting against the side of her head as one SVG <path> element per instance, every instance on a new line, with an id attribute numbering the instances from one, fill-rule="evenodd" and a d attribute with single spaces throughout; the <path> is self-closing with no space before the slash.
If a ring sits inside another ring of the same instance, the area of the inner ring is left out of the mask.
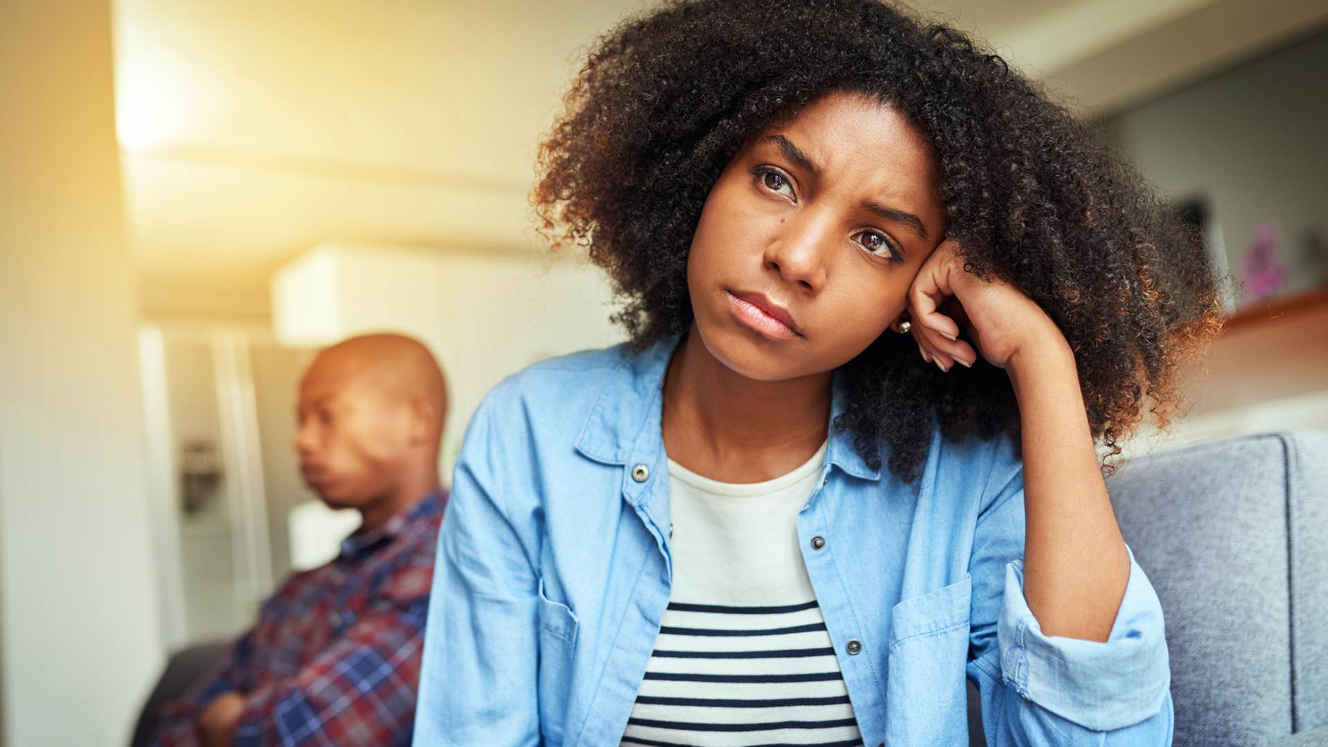
<path id="1" fill-rule="evenodd" d="M 1020 351 L 1046 344 L 1069 350 L 1056 323 L 1023 291 L 1000 278 L 985 282 L 965 272 L 957 246 L 955 239 L 942 242 L 908 288 L 910 332 L 924 359 L 950 371 L 956 362 L 972 366 L 981 352 L 1008 370 Z M 957 339 L 960 330 L 973 344 Z"/>

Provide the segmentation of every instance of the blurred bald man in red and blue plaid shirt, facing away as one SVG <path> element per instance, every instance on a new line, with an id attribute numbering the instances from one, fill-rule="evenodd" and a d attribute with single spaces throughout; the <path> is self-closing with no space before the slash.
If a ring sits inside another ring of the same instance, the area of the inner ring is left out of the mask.
<path id="1" fill-rule="evenodd" d="M 417 340 L 327 348 L 300 381 L 304 482 L 361 526 L 328 565 L 292 576 L 157 743 L 409 744 L 438 522 L 442 371 Z"/>

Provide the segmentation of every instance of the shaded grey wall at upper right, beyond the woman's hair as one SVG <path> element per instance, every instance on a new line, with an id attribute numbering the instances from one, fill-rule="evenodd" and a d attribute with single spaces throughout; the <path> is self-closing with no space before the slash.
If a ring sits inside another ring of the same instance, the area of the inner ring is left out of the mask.
<path id="1" fill-rule="evenodd" d="M 1328 32 L 1104 121 L 1175 199 L 1206 198 L 1239 274 L 1259 225 L 1282 226 L 1284 292 L 1328 283 Z"/>

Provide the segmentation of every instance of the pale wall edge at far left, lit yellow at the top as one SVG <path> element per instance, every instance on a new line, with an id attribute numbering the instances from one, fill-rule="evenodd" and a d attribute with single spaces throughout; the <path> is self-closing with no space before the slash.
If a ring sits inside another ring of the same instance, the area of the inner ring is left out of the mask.
<path id="1" fill-rule="evenodd" d="M 0 673 L 13 747 L 124 744 L 162 663 L 110 8 L 0 3 Z"/>

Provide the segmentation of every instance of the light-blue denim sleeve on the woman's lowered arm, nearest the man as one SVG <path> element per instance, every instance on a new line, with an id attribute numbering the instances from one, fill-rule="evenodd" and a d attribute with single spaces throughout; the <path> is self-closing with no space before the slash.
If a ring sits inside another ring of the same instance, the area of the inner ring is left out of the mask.
<path id="1" fill-rule="evenodd" d="M 533 512 L 506 502 L 491 399 L 466 429 L 438 532 L 416 746 L 539 742 Z"/>

